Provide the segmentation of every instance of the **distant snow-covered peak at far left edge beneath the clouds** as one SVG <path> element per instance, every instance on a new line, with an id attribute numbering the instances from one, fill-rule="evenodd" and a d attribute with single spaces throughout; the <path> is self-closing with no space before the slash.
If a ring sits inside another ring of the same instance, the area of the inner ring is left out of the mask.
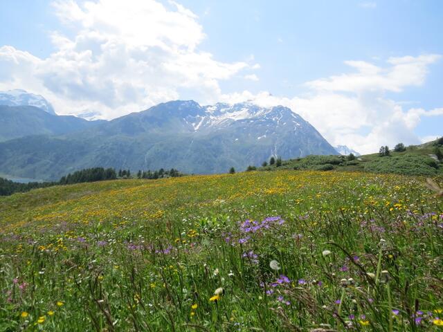
<path id="1" fill-rule="evenodd" d="M 56 115 L 53 106 L 48 100 L 44 99 L 41 95 L 35 95 L 20 89 L 0 91 L 0 105 L 33 106 Z"/>

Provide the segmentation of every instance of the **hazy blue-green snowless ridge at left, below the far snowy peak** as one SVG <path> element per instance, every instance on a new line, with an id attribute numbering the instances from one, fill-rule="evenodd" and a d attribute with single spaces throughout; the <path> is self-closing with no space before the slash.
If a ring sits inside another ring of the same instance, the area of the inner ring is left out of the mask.
<path id="1" fill-rule="evenodd" d="M 57 116 L 33 106 L 0 105 L 0 142 L 29 135 L 60 135 L 80 131 L 103 121 Z"/>

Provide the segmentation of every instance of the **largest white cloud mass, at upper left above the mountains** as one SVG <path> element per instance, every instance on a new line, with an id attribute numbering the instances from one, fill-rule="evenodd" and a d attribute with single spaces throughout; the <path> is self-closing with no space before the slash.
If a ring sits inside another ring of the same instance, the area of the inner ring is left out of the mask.
<path id="1" fill-rule="evenodd" d="M 260 68 L 253 59 L 219 62 L 199 50 L 206 35 L 197 16 L 174 1 L 169 5 L 55 1 L 55 13 L 73 37 L 51 33 L 55 52 L 45 59 L 1 47 L 0 89 L 42 94 L 58 113 L 115 118 L 178 99 L 186 90 L 211 99 L 220 93 L 220 80 Z"/>

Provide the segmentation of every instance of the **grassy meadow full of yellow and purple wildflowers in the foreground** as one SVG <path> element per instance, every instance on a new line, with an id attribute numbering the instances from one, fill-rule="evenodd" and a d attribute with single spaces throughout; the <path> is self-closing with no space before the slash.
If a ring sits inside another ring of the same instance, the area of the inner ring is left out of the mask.
<path id="1" fill-rule="evenodd" d="M 0 331 L 443 331 L 423 183 L 282 170 L 1 197 Z"/>

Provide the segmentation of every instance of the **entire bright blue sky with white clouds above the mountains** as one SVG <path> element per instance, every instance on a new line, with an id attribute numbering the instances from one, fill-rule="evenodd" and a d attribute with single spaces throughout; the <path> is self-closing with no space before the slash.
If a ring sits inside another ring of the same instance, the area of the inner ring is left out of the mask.
<path id="1" fill-rule="evenodd" d="M 0 91 L 58 114 L 251 100 L 360 153 L 443 135 L 440 0 L 2 0 L 0 22 Z"/>

